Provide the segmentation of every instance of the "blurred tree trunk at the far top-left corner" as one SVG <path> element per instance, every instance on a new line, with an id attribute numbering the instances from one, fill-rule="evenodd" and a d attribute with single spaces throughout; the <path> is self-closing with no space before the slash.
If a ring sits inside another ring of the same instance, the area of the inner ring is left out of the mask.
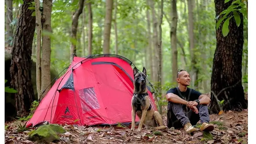
<path id="1" fill-rule="evenodd" d="M 10 25 L 12 23 L 12 0 L 6 0 L 6 43 L 8 46 L 12 42 L 12 26 Z"/>

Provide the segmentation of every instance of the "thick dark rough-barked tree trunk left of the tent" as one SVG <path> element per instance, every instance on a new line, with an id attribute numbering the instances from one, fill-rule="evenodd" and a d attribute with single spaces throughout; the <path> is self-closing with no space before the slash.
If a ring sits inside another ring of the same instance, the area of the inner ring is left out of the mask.
<path id="1" fill-rule="evenodd" d="M 17 90 L 14 95 L 17 116 L 19 117 L 26 116 L 30 112 L 29 108 L 34 99 L 31 83 L 31 54 L 36 17 L 31 16 L 34 10 L 28 9 L 29 3 L 32 1 L 24 0 L 21 5 L 12 45 L 11 86 Z"/>

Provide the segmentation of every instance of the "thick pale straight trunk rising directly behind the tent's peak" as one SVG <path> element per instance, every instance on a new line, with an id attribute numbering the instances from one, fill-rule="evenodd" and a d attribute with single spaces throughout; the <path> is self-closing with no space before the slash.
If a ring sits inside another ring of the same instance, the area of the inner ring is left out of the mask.
<path id="1" fill-rule="evenodd" d="M 106 0 L 106 15 L 104 24 L 103 53 L 110 53 L 110 30 L 112 21 L 113 0 Z"/>

